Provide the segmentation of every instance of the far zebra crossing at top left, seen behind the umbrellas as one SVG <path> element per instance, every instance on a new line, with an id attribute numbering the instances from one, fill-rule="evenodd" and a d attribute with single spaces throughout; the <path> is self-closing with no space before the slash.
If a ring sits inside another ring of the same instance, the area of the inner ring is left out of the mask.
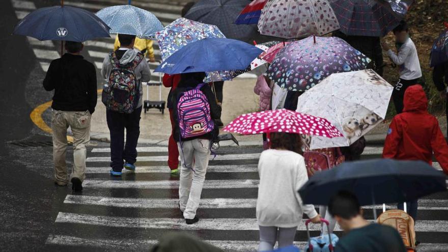
<path id="1" fill-rule="evenodd" d="M 36 10 L 35 2 L 31 0 L 11 0 L 17 19 L 24 18 L 30 12 Z M 92 12 L 97 12 L 102 8 L 106 8 L 114 5 L 127 4 L 124 0 L 87 0 L 87 1 L 64 1 L 65 5 L 86 9 Z M 132 5 L 138 8 L 142 8 L 153 13 L 165 26 L 172 21 L 180 18 L 180 13 L 183 8 L 181 3 L 169 3 L 167 1 L 151 0 L 147 2 L 132 1 Z M 43 6 L 38 6 L 43 7 Z M 100 38 L 84 43 L 85 49 L 82 55 L 92 62 L 97 68 L 97 76 L 100 76 L 100 71 L 103 65 L 103 60 L 107 53 L 114 49 L 115 35 L 111 35 L 111 38 Z M 59 41 L 39 41 L 34 38 L 27 37 L 30 46 L 33 48 L 34 54 L 44 72 L 48 70 L 50 62 L 54 59 L 60 58 L 61 43 Z M 153 43 L 154 55 L 157 61 L 161 60 L 160 49 L 157 41 Z M 162 73 L 155 73 L 154 69 L 159 63 L 150 63 L 151 69 L 151 81 L 159 82 Z M 254 74 L 244 73 L 238 77 L 242 78 L 254 78 Z M 99 86 L 101 86 L 102 79 L 99 78 Z"/>

